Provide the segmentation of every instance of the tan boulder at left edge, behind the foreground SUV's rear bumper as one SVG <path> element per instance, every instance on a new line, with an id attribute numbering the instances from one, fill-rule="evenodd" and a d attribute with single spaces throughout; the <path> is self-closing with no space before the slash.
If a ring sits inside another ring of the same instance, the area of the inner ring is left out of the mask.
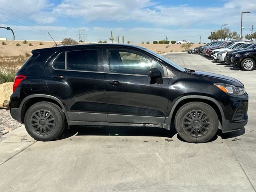
<path id="1" fill-rule="evenodd" d="M 5 107 L 6 106 L 5 100 L 7 100 L 7 103 L 9 102 L 10 96 L 12 94 L 12 86 L 13 86 L 13 82 L 0 84 L 0 108 L 1 109 L 9 108 L 9 104 L 8 104 L 8 107 Z"/>

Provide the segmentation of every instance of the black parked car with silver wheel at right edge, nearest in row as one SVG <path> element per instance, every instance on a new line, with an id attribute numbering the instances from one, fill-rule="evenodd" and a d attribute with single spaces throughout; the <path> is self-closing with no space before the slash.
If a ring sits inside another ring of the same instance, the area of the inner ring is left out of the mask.
<path id="1" fill-rule="evenodd" d="M 232 53 L 231 66 L 241 68 L 244 71 L 250 71 L 255 68 L 256 50 L 242 50 Z"/>

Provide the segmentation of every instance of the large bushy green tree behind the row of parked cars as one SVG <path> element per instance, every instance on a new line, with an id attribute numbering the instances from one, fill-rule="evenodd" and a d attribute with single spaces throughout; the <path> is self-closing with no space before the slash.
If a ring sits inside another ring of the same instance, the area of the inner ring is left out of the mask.
<path id="1" fill-rule="evenodd" d="M 219 29 L 216 32 L 213 32 L 212 35 L 208 36 L 208 39 L 212 40 L 230 40 L 230 39 L 237 39 L 238 34 L 236 31 L 231 32 L 230 28 L 223 28 L 222 31 Z"/>

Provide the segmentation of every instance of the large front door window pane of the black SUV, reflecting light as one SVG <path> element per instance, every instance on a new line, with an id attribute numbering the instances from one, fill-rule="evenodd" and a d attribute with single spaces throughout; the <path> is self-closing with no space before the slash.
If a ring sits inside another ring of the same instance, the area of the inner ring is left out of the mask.
<path id="1" fill-rule="evenodd" d="M 113 73 L 148 75 L 152 68 L 149 58 L 123 50 L 108 50 L 108 62 Z"/>

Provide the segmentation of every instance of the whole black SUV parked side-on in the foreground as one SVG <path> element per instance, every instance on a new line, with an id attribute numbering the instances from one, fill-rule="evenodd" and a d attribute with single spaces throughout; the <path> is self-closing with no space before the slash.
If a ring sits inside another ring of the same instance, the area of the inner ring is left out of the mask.
<path id="1" fill-rule="evenodd" d="M 66 125 L 171 124 L 188 142 L 246 125 L 248 94 L 227 76 L 182 68 L 146 48 L 87 44 L 32 50 L 10 98 L 14 119 L 36 140 Z"/>

